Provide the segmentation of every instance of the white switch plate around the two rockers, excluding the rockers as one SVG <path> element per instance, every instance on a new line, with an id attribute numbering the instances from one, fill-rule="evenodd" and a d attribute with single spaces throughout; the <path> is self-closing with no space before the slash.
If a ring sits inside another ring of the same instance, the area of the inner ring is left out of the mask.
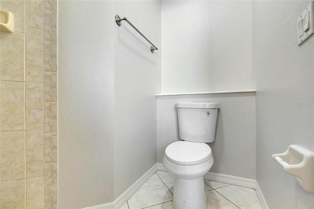
<path id="1" fill-rule="evenodd" d="M 308 38 L 310 38 L 311 35 L 314 33 L 314 20 L 313 20 L 313 1 L 306 7 L 306 9 L 302 12 L 302 14 L 298 17 L 297 20 L 297 39 L 298 39 L 298 46 L 300 46 L 303 42 L 305 42 Z M 304 24 L 304 17 L 309 12 L 309 30 L 304 32 L 301 37 L 299 37 L 299 26 L 298 23 L 301 19 L 303 19 L 303 29 L 305 28 Z"/>

